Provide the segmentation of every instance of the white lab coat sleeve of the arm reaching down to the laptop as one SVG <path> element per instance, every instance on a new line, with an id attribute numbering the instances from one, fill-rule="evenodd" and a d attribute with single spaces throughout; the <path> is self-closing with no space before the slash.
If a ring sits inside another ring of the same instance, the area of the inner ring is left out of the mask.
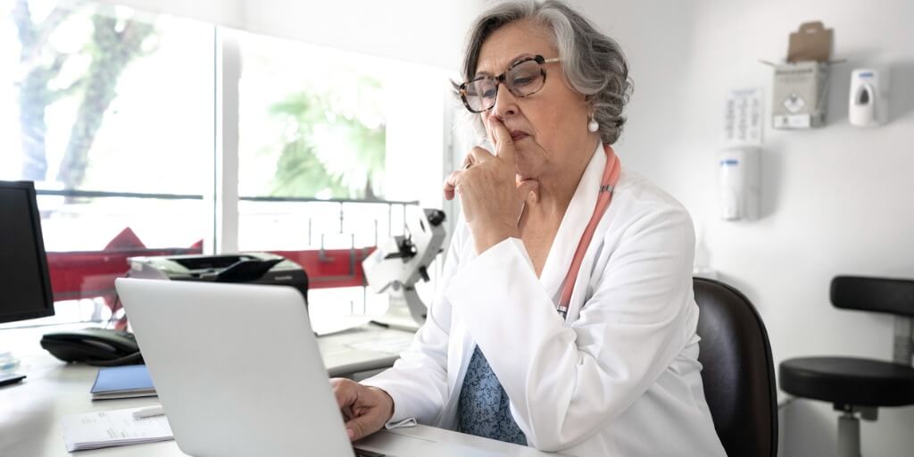
<path id="1" fill-rule="evenodd" d="M 409 348 L 400 354 L 394 366 L 361 383 L 382 388 L 394 400 L 394 414 L 387 427 L 394 428 L 414 418 L 432 423 L 447 400 L 447 356 L 451 328 L 451 306 L 443 297 L 447 284 L 459 263 L 458 236 L 454 236 L 441 275 L 441 285 L 429 306 L 426 322 L 416 333 Z"/>

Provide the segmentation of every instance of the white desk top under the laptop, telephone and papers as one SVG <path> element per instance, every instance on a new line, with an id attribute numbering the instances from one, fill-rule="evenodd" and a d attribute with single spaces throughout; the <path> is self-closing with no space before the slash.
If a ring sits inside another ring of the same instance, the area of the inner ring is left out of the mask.
<path id="1" fill-rule="evenodd" d="M 40 335 L 47 329 L 0 330 L 0 349 L 13 350 L 27 367 L 27 379 L 19 384 L 0 387 L 0 456 L 3 457 L 62 457 L 76 455 L 79 457 L 170 457 L 183 456 L 175 441 L 156 442 L 108 448 L 96 451 L 80 451 L 69 454 L 64 446 L 60 420 L 69 414 L 80 414 L 106 409 L 143 407 L 157 404 L 155 398 L 114 399 L 91 401 L 89 389 L 98 372 L 97 367 L 85 365 L 66 365 L 50 356 L 38 345 Z M 394 331 L 396 332 L 396 331 Z M 334 335 L 335 338 L 322 343 L 328 347 L 329 354 L 325 359 L 331 371 L 337 369 L 357 368 L 356 371 L 370 369 L 384 362 L 359 360 L 353 354 L 339 349 L 348 345 L 348 337 Z M 338 354 L 335 354 L 338 353 Z M 333 358 L 338 357 L 338 358 Z M 335 362 L 334 362 L 335 360 Z M 343 364 L 332 366 L 333 363 Z M 396 457 L 398 445 L 409 445 L 410 441 L 429 441 L 447 443 L 448 445 L 473 446 L 483 450 L 477 455 L 510 455 L 517 457 L 534 457 L 556 455 L 537 452 L 532 448 L 516 446 L 501 441 L 487 440 L 441 430 L 433 427 L 419 426 L 409 429 L 383 430 L 361 441 L 359 446 L 369 451 L 385 452 L 389 457 Z M 467 448 L 470 450 L 470 448 Z M 465 454 L 471 457 L 472 453 Z"/>

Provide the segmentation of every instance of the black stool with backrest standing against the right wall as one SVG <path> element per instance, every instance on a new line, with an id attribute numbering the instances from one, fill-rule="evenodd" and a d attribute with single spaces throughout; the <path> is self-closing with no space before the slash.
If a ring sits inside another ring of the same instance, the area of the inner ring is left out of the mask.
<path id="1" fill-rule="evenodd" d="M 877 408 L 914 405 L 914 281 L 838 276 L 832 280 L 835 308 L 896 315 L 893 362 L 856 357 L 801 357 L 781 362 L 781 390 L 818 399 L 843 411 L 838 418 L 838 456 L 859 457 L 860 420 L 877 419 Z"/>

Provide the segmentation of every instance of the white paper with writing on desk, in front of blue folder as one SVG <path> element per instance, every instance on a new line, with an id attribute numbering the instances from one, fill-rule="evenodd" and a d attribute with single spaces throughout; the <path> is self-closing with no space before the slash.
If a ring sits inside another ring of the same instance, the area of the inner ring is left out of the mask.
<path id="1" fill-rule="evenodd" d="M 67 452 L 174 439 L 165 416 L 134 419 L 133 411 L 139 409 L 143 408 L 64 416 L 63 441 Z"/>

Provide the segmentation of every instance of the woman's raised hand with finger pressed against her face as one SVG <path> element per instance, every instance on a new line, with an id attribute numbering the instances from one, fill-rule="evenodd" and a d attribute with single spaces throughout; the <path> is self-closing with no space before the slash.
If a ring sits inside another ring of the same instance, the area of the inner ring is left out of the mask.
<path id="1" fill-rule="evenodd" d="M 461 197 L 463 218 L 480 254 L 504 239 L 519 237 L 517 221 L 524 202 L 539 185 L 535 180 L 516 181 L 515 143 L 505 124 L 490 116 L 489 132 L 495 154 L 474 147 L 467 154 L 464 167 L 444 181 L 446 199 L 452 199 L 455 193 Z"/>

